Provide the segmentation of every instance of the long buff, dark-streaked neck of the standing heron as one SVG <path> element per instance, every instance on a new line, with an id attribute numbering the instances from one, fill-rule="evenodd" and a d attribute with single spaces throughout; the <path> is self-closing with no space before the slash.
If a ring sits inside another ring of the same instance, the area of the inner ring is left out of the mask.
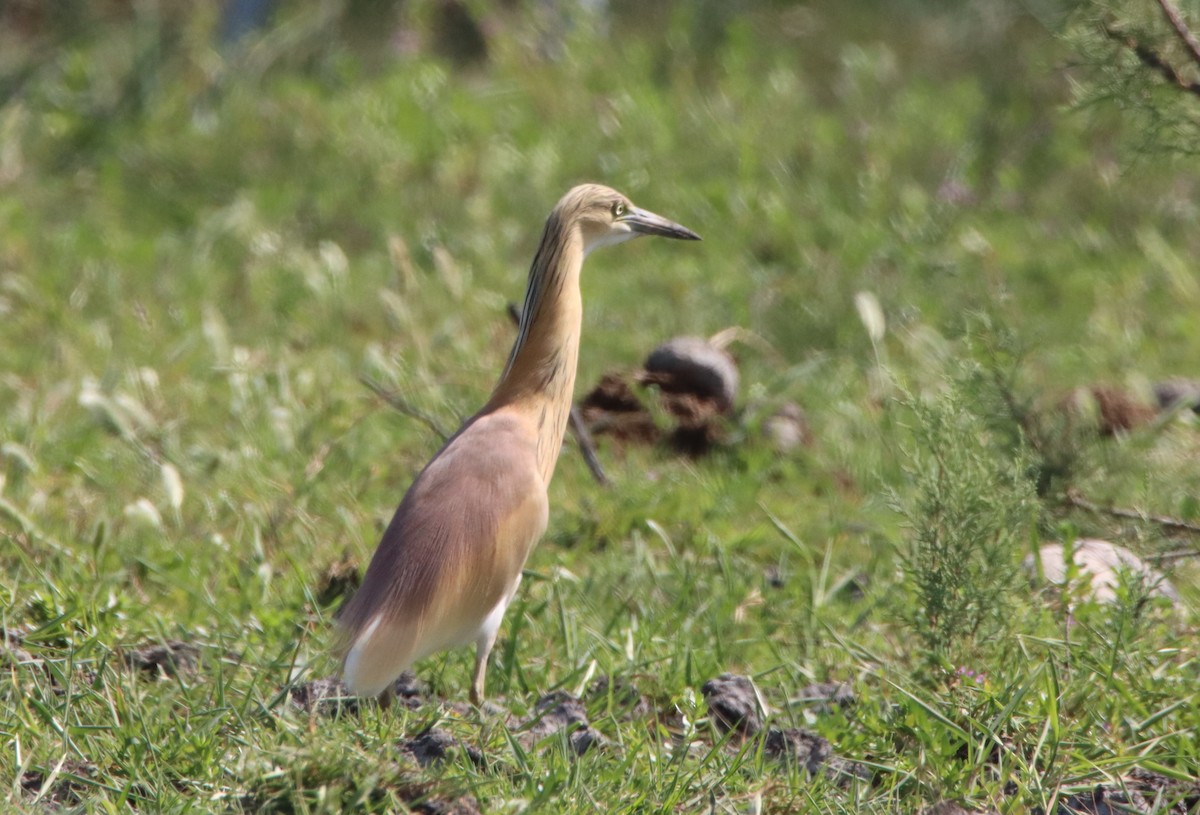
<path id="1" fill-rule="evenodd" d="M 521 328 L 487 408 L 510 407 L 538 431 L 538 467 L 550 484 L 563 447 L 580 358 L 583 240 L 554 218 L 529 269 Z"/>

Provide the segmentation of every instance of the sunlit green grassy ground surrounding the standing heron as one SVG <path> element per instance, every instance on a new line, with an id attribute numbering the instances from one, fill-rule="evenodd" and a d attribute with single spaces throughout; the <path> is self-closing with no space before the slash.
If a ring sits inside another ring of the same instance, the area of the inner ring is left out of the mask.
<path id="1" fill-rule="evenodd" d="M 1165 561 L 1174 610 L 1016 575 L 1063 537 L 1195 551 L 1070 495 L 1200 515 L 1194 421 L 1046 418 L 1076 385 L 1198 373 L 1200 187 L 1068 110 L 1036 23 L 664 5 L 554 61 L 500 18 L 486 66 L 455 68 L 318 11 L 221 56 L 211 20 L 155 7 L 6 58 L 29 68 L 0 108 L 7 809 L 1026 811 L 1200 774 L 1194 559 Z M 589 259 L 581 389 L 740 326 L 761 341 L 734 347 L 725 444 L 601 438 L 607 490 L 564 453 L 488 677 L 510 715 L 454 705 L 467 652 L 418 666 L 415 711 L 296 708 L 289 685 L 336 671 L 331 567 L 370 557 L 439 444 L 360 377 L 444 427 L 473 412 L 581 180 L 704 236 Z M 786 401 L 814 443 L 780 455 Z M 127 666 L 170 641 L 194 661 Z M 722 735 L 701 691 L 722 672 L 864 778 Z M 606 676 L 649 707 L 589 695 Z M 823 681 L 857 703 L 798 699 Z M 554 690 L 604 747 L 529 735 Z M 430 726 L 464 749 L 406 759 Z"/>

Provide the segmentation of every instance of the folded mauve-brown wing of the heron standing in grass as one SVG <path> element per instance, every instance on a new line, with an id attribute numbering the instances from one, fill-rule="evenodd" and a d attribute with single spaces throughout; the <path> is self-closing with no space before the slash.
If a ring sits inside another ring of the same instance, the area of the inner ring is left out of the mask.
<path id="1" fill-rule="evenodd" d="M 520 419 L 486 414 L 418 475 L 338 617 L 353 690 L 379 693 L 415 660 L 479 636 L 546 531 L 534 439 Z"/>

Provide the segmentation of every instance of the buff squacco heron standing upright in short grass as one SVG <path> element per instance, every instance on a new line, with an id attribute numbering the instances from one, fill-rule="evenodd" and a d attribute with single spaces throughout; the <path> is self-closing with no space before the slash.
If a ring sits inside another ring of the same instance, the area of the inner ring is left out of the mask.
<path id="1" fill-rule="evenodd" d="M 496 390 L 409 486 L 338 615 L 352 693 L 386 701 L 413 663 L 474 642 L 470 700 L 481 703 L 500 621 L 550 517 L 580 353 L 583 258 L 638 235 L 700 240 L 596 184 L 575 187 L 550 214 Z"/>

